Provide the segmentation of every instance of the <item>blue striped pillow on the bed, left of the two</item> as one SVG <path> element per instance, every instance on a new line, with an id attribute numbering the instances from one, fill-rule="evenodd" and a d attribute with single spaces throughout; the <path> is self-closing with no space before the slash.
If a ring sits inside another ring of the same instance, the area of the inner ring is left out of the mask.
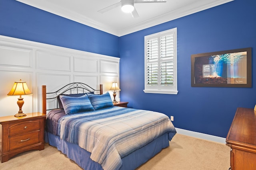
<path id="1" fill-rule="evenodd" d="M 87 95 L 81 97 L 60 96 L 60 101 L 67 115 L 80 111 L 94 110 Z"/>

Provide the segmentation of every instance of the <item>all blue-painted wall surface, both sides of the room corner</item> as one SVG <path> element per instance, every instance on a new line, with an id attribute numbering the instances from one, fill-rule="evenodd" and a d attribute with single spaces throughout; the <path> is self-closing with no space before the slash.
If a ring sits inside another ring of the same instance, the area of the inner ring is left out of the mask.
<path id="1" fill-rule="evenodd" d="M 33 8 L 0 0 L 0 35 L 120 57 L 120 96 L 128 106 L 174 116 L 181 129 L 226 137 L 237 107 L 256 104 L 256 2 L 234 0 L 117 37 Z M 178 95 L 146 94 L 144 36 L 177 27 Z M 252 47 L 252 88 L 191 87 L 192 54 Z"/>

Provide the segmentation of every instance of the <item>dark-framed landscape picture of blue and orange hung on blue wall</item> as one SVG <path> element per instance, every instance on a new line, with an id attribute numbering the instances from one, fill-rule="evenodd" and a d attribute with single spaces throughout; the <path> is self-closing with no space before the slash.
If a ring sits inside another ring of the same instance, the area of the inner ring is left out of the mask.
<path id="1" fill-rule="evenodd" d="M 252 87 L 252 48 L 191 55 L 192 87 Z"/>

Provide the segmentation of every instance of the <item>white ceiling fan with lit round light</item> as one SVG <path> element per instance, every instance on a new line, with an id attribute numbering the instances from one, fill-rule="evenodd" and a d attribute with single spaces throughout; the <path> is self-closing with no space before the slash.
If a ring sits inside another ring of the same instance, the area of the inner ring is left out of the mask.
<path id="1" fill-rule="evenodd" d="M 120 2 L 110 5 L 106 8 L 103 8 L 101 10 L 99 10 L 98 12 L 100 13 L 104 13 L 107 12 L 109 10 L 112 10 L 118 6 L 121 6 L 122 11 L 126 12 L 126 13 L 131 13 L 133 18 L 138 18 L 139 14 L 137 12 L 137 10 L 134 8 L 134 4 L 136 3 L 156 3 L 156 2 L 166 2 L 164 0 L 121 0 Z"/>

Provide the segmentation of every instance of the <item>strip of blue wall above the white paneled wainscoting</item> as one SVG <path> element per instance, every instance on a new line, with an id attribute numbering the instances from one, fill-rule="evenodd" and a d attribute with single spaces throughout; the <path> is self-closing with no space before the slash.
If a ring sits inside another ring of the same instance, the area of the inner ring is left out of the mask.
<path id="1" fill-rule="evenodd" d="M 15 0 L 0 0 L 0 35 L 119 56 L 119 37 Z"/>

